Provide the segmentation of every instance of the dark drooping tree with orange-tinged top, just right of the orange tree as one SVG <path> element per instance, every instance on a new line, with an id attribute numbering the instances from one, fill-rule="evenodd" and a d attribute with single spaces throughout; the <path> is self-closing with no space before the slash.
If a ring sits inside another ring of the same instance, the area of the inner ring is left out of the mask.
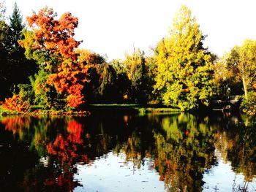
<path id="1" fill-rule="evenodd" d="M 87 81 L 84 83 L 86 101 L 117 102 L 121 94 L 118 87 L 118 77 L 113 65 L 105 62 L 105 58 L 89 50 L 78 49 L 78 61 L 88 69 Z"/>

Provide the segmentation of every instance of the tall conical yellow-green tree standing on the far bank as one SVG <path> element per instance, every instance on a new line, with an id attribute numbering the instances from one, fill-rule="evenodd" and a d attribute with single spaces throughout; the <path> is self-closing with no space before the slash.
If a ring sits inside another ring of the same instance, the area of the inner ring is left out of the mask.
<path id="1" fill-rule="evenodd" d="M 205 37 L 186 6 L 181 6 L 170 36 L 157 45 L 154 92 L 164 104 L 191 110 L 208 105 L 213 94 L 211 53 L 203 47 Z"/>

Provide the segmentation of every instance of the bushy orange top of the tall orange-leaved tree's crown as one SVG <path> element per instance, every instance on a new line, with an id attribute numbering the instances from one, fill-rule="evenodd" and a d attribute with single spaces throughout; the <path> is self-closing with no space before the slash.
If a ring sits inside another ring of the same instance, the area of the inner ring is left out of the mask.
<path id="1" fill-rule="evenodd" d="M 53 9 L 45 7 L 38 14 L 27 17 L 29 27 L 33 28 L 34 49 L 50 53 L 56 57 L 75 60 L 74 50 L 80 42 L 76 41 L 75 28 L 78 26 L 78 18 L 70 12 L 64 13 L 59 20 L 55 20 L 56 13 Z"/>

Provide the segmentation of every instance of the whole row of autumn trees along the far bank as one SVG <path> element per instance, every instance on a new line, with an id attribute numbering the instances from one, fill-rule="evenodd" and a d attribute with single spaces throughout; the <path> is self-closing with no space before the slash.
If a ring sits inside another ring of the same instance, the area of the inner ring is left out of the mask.
<path id="1" fill-rule="evenodd" d="M 45 7 L 27 18 L 25 28 L 15 4 L 10 25 L 3 17 L 1 23 L 0 51 L 6 53 L 0 58 L 4 61 L 1 85 L 6 85 L 1 88 L 1 99 L 10 96 L 10 88 L 14 93 L 3 105 L 7 109 L 151 101 L 192 110 L 208 105 L 216 93 L 227 96 L 227 88 L 233 91 L 234 87 L 233 93 L 244 90 L 247 111 L 248 107 L 252 108 L 249 112 L 255 111 L 256 42 L 246 40 L 217 60 L 203 47 L 205 36 L 186 6 L 153 55 L 138 49 L 124 61 L 107 62 L 102 55 L 79 49 L 80 41 L 74 39 L 78 18 L 69 12 L 57 18 L 53 9 Z M 13 86 L 17 84 L 18 90 Z"/>

